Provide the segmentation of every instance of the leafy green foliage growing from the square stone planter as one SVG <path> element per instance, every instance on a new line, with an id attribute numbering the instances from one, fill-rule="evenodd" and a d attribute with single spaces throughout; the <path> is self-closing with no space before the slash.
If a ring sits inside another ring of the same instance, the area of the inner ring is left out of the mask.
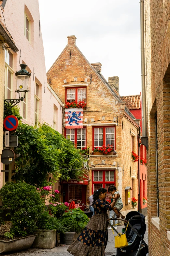
<path id="1" fill-rule="evenodd" d="M 58 233 L 63 231 L 63 227 L 54 216 L 45 211 L 40 215 L 37 223 L 38 229 L 57 230 Z"/>

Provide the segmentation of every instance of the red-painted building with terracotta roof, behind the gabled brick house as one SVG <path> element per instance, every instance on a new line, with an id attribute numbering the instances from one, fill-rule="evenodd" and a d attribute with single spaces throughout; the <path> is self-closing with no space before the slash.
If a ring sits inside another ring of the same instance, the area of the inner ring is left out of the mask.
<path id="1" fill-rule="evenodd" d="M 122 101 L 126 103 L 126 107 L 129 111 L 135 116 L 136 119 L 140 120 L 140 128 L 142 134 L 142 97 L 141 93 L 139 95 L 129 95 L 129 96 L 121 96 Z M 147 158 L 146 156 L 147 150 L 144 145 L 140 145 L 140 159 Z M 145 164 L 140 163 L 140 208 L 141 213 L 147 215 L 147 207 L 148 203 L 143 203 L 143 197 L 147 198 L 147 167 Z"/>

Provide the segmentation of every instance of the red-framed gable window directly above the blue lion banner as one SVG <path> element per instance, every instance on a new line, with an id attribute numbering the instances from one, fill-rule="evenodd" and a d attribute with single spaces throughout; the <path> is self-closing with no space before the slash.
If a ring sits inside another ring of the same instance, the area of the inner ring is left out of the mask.
<path id="1" fill-rule="evenodd" d="M 66 89 L 66 102 L 84 101 L 86 103 L 86 88 Z"/>

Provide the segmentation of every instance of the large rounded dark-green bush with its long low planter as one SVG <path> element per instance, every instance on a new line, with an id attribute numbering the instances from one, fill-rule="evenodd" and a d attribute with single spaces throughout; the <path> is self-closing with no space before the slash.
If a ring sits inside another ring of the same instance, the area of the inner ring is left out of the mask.
<path id="1" fill-rule="evenodd" d="M 21 181 L 7 182 L 0 189 L 0 199 L 0 211 L 7 210 L 11 223 L 5 239 L 1 233 L 0 252 L 28 249 L 34 242 L 36 222 L 44 209 L 36 188 Z M 2 219 L 3 225 L 2 229 L 6 229 L 8 224 Z"/>

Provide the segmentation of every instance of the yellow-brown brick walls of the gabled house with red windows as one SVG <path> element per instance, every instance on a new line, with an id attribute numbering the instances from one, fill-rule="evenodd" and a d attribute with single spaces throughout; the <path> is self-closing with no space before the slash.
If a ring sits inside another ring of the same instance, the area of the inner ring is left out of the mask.
<path id="1" fill-rule="evenodd" d="M 131 143 L 134 136 L 134 151 L 137 153 L 138 125 L 134 121 L 135 118 L 130 117 L 130 113 L 129 115 L 126 113 L 127 109 L 125 112 L 125 103 L 121 101 L 116 89 L 112 88 L 102 76 L 101 63 L 91 65 L 76 46 L 75 40 L 75 36 L 68 37 L 67 46 L 47 72 L 48 81 L 63 102 L 66 102 L 68 88 L 86 87 L 87 90 L 87 109 L 83 111 L 83 128 L 86 128 L 86 146 L 90 147 L 88 162 L 90 182 L 86 188 L 86 202 L 93 192 L 93 171 L 115 171 L 115 185 L 124 203 L 123 212 L 127 213 L 131 210 L 131 198 L 130 203 L 126 205 L 125 187 L 132 186 L 132 174 L 134 193 L 137 197 L 137 162 L 132 161 L 131 158 Z M 115 156 L 92 155 L 95 127 L 115 127 L 117 152 Z M 63 127 L 63 134 L 64 130 Z M 105 165 L 100 164 L 102 160 L 105 160 Z M 116 162 L 114 166 L 113 162 Z"/>

